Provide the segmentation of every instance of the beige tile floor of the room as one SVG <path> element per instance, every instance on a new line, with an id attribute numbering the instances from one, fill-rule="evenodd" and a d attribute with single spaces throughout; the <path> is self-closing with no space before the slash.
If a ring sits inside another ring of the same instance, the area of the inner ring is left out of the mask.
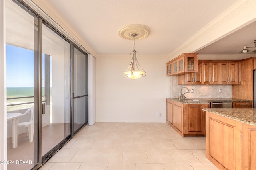
<path id="1" fill-rule="evenodd" d="M 218 170 L 205 137 L 182 138 L 167 123 L 86 125 L 40 170 Z"/>

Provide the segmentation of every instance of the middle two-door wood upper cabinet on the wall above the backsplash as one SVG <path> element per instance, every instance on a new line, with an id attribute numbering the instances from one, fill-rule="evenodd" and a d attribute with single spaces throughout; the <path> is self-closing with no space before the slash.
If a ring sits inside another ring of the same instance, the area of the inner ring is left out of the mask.
<path id="1" fill-rule="evenodd" d="M 220 84 L 220 62 L 202 63 L 202 84 Z"/>

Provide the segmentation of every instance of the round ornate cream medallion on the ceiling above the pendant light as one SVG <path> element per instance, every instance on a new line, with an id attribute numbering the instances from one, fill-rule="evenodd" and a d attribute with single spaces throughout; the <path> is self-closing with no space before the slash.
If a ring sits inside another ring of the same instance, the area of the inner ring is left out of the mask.
<path id="1" fill-rule="evenodd" d="M 150 34 L 149 27 L 140 24 L 126 25 L 119 30 L 119 36 L 124 39 L 134 40 L 132 34 L 137 34 L 135 40 L 144 39 Z"/>

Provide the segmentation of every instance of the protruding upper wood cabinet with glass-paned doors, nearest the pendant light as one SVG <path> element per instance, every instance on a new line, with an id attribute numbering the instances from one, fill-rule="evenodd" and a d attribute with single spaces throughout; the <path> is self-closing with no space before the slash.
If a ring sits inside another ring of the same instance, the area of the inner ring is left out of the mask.
<path id="1" fill-rule="evenodd" d="M 177 76 L 184 73 L 197 72 L 197 55 L 199 53 L 183 53 L 166 63 L 167 76 Z M 169 72 L 168 72 L 169 70 Z M 169 74 L 168 74 L 169 73 Z"/>

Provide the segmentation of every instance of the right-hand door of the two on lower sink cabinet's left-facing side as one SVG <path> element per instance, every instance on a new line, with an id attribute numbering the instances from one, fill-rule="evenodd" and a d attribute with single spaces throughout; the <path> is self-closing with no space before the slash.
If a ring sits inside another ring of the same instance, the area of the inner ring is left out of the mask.
<path id="1" fill-rule="evenodd" d="M 173 125 L 176 127 L 181 133 L 183 132 L 182 125 L 182 107 L 176 104 L 173 105 Z"/>

